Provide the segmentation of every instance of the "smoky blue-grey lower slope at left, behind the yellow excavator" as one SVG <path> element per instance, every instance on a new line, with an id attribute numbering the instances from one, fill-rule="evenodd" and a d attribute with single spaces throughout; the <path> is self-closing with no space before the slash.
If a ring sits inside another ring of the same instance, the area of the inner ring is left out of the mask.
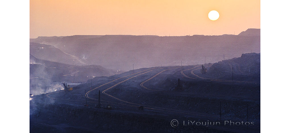
<path id="1" fill-rule="evenodd" d="M 84 82 L 97 76 L 111 76 L 124 71 L 103 68 L 100 65 L 76 66 L 40 60 L 30 54 L 30 93 L 34 95 L 63 89 L 61 83 Z"/>

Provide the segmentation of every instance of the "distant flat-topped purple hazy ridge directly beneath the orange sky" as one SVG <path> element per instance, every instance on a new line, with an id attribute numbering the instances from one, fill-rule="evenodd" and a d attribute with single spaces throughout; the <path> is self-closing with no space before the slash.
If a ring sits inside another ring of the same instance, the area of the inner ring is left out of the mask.
<path id="1" fill-rule="evenodd" d="M 82 62 L 105 68 L 131 70 L 160 65 L 214 63 L 260 53 L 260 29 L 248 29 L 239 35 L 221 36 L 66 36 L 38 37 L 31 42 L 53 45 L 75 55 Z M 56 55 L 58 56 L 58 55 Z M 55 61 L 55 60 L 54 60 Z"/>

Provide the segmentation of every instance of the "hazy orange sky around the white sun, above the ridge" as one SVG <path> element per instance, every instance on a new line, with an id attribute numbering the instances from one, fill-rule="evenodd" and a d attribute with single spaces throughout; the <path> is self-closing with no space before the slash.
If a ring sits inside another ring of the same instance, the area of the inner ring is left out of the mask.
<path id="1" fill-rule="evenodd" d="M 208 13 L 217 10 L 219 19 Z M 30 38 L 235 34 L 260 28 L 259 0 L 30 0 Z"/>

